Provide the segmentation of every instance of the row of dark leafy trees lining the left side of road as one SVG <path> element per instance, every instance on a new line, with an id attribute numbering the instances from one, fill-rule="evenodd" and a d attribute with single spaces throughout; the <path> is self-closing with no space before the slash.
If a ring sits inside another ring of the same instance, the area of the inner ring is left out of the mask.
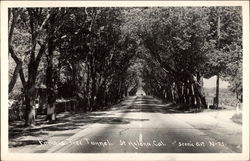
<path id="1" fill-rule="evenodd" d="M 129 67 L 136 42 L 123 32 L 120 8 L 9 9 L 9 53 L 15 61 L 9 93 L 20 77 L 26 125 L 34 124 L 36 88 L 48 107 L 76 98 L 85 111 L 114 103 L 138 85 Z"/>

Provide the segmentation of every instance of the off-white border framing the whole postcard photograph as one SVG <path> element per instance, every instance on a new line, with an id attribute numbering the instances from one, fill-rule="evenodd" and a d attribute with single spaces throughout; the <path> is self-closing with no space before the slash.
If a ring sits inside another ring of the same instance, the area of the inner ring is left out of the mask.
<path id="1" fill-rule="evenodd" d="M 8 153 L 8 7 L 242 6 L 243 153 Z M 248 1 L 3 1 L 1 2 L 1 156 L 3 160 L 249 160 L 249 2 Z"/>

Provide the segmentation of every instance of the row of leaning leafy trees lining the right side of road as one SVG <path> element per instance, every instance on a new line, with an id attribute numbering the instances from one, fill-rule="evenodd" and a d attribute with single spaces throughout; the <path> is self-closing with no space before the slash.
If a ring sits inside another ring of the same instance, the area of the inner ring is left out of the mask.
<path id="1" fill-rule="evenodd" d="M 203 78 L 217 76 L 242 98 L 240 7 L 135 8 L 128 22 L 144 48 L 144 90 L 183 107 L 206 108 Z M 218 105 L 218 104 L 217 104 Z"/>

